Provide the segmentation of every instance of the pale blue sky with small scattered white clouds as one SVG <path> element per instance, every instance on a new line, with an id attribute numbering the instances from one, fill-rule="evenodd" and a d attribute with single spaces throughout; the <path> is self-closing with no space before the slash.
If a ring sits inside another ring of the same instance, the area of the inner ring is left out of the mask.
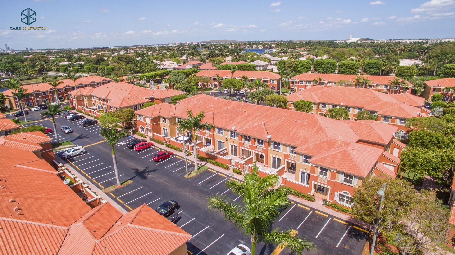
<path id="1" fill-rule="evenodd" d="M 168 42 L 455 37 L 455 0 L 2 0 L 0 48 L 82 48 Z M 30 26 L 20 12 L 35 10 Z"/>

